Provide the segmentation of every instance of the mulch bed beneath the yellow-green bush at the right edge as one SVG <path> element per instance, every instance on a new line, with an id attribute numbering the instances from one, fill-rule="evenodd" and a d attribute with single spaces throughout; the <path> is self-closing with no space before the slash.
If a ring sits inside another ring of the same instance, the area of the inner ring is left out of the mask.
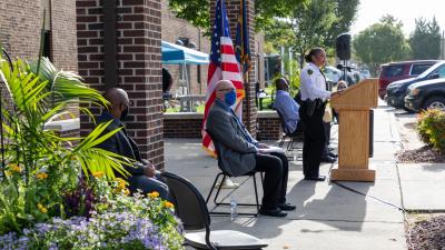
<path id="1" fill-rule="evenodd" d="M 404 150 L 396 154 L 397 161 L 402 163 L 421 163 L 421 162 L 445 162 L 445 153 L 433 149 L 431 146 L 424 146 L 419 149 Z"/>

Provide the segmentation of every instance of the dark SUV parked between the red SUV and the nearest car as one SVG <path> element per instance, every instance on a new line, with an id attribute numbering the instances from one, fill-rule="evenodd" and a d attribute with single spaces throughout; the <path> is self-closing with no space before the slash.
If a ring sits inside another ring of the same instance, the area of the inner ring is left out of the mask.
<path id="1" fill-rule="evenodd" d="M 409 78 L 400 81 L 395 81 L 388 84 L 386 89 L 386 102 L 399 109 L 405 108 L 405 96 L 407 94 L 407 89 L 411 84 L 425 81 L 428 79 L 445 78 L 445 61 L 439 61 L 436 64 L 429 67 L 426 71 L 417 76 L 416 78 Z M 409 110 L 408 110 L 409 111 Z"/>

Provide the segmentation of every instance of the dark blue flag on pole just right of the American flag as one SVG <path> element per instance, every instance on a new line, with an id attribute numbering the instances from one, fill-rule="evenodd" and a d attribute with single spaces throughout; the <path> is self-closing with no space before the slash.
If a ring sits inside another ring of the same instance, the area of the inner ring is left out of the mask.
<path id="1" fill-rule="evenodd" d="M 246 0 L 240 0 L 235 44 L 236 44 L 236 57 L 240 66 L 240 71 L 243 72 L 243 79 L 244 81 L 247 81 L 248 72 L 250 71 L 251 64 L 250 64 L 249 31 L 247 29 Z"/>

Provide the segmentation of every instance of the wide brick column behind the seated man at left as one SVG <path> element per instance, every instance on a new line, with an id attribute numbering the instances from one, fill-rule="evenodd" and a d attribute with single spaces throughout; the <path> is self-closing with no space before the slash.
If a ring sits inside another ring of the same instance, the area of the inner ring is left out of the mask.
<path id="1" fill-rule="evenodd" d="M 126 122 L 142 158 L 164 168 L 164 121 L 161 111 L 161 18 L 160 0 L 117 0 L 117 86 L 131 101 Z M 103 6 L 101 0 L 76 0 L 79 73 L 86 82 L 105 90 Z M 99 109 L 91 107 L 95 114 Z M 81 117 L 82 132 L 92 122 Z"/>

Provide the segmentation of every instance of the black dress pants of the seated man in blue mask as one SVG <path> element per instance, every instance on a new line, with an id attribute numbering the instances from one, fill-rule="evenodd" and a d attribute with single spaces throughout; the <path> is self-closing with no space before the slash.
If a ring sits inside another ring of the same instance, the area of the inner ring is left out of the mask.
<path id="1" fill-rule="evenodd" d="M 286 202 L 287 179 L 289 163 L 284 153 L 258 153 L 256 170 L 265 172 L 263 207 L 275 209 L 279 203 Z"/>

